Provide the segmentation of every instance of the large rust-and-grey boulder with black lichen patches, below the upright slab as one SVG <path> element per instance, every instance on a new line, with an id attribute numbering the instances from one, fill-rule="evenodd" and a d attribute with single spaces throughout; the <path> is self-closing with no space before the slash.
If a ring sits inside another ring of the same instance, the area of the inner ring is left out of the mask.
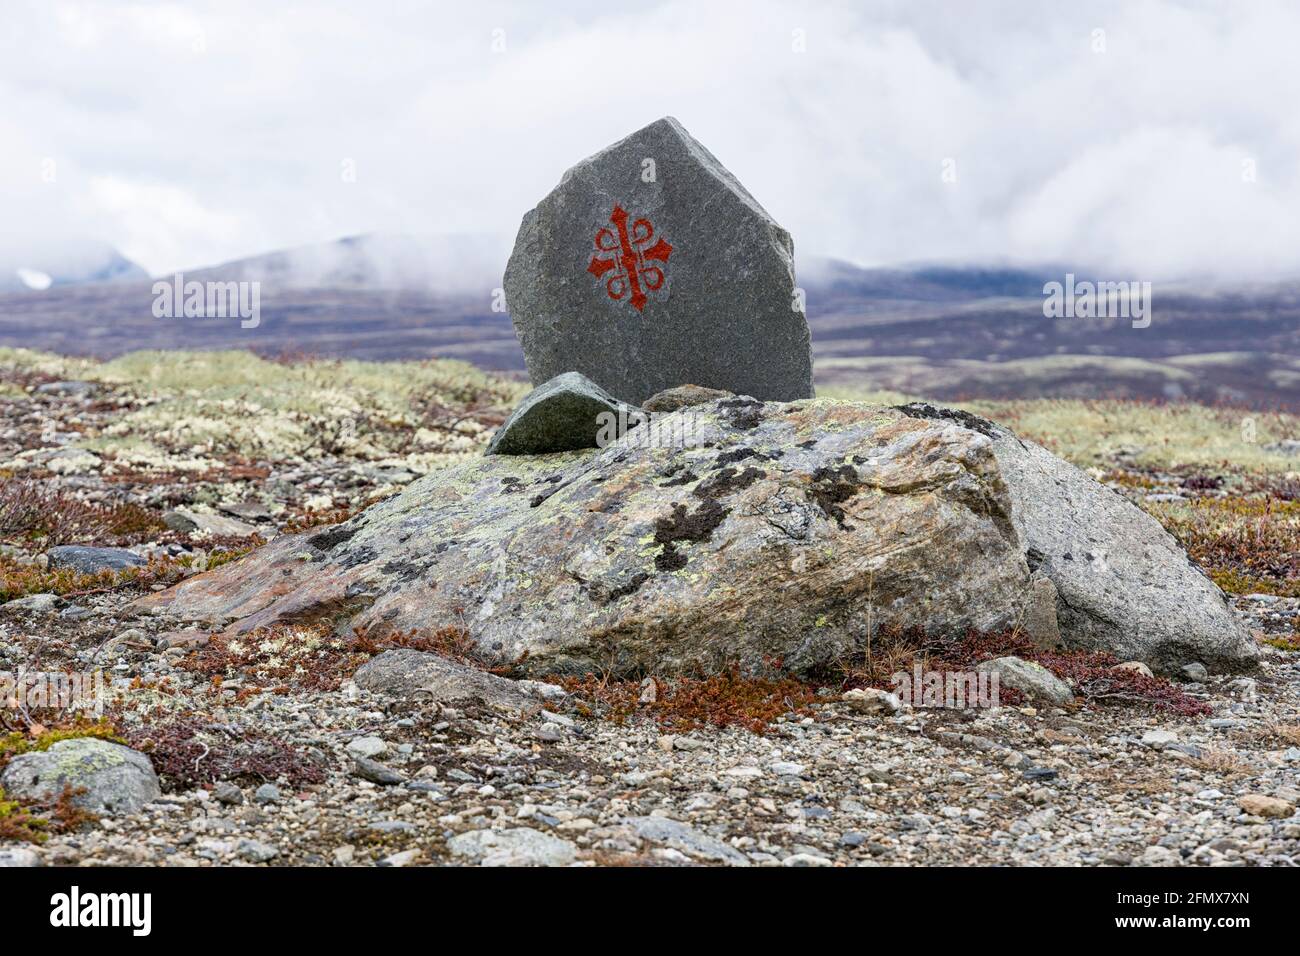
<path id="1" fill-rule="evenodd" d="M 889 408 L 725 399 L 633 441 L 494 455 L 144 598 L 237 631 L 463 623 L 524 670 L 828 666 L 868 628 L 1017 624 L 1031 575 L 985 436 Z"/>

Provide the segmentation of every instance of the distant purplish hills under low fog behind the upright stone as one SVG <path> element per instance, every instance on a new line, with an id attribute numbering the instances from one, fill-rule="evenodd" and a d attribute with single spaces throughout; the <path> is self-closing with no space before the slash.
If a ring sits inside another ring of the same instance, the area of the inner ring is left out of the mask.
<path id="1" fill-rule="evenodd" d="M 252 329 L 233 319 L 157 319 L 152 282 L 139 267 L 112 250 L 69 255 L 79 268 L 51 267 L 47 289 L 9 282 L 0 291 L 0 345 L 96 356 L 182 347 L 441 356 L 523 373 L 510 316 L 493 310 L 507 255 L 507 242 L 489 235 L 360 235 L 185 273 L 261 282 L 261 321 Z M 1044 284 L 1070 271 L 1058 264 L 863 269 L 801 259 L 797 269 L 820 385 L 937 399 L 1300 407 L 1300 282 L 1156 284 L 1152 324 L 1132 328 L 1127 319 L 1044 317 Z"/>

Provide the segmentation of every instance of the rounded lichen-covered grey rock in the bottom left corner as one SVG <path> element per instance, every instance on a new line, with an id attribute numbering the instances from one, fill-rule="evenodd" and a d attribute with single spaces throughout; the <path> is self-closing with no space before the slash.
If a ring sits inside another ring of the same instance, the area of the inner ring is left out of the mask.
<path id="1" fill-rule="evenodd" d="M 150 758 L 139 750 L 96 737 L 60 740 L 48 750 L 9 761 L 0 788 L 10 797 L 55 800 L 65 787 L 78 806 L 101 816 L 135 813 L 162 796 Z"/>

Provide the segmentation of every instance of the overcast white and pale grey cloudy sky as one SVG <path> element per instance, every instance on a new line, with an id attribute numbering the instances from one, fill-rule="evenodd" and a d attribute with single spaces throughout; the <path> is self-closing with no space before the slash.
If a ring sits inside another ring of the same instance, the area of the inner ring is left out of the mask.
<path id="1" fill-rule="evenodd" d="M 1297 276 L 1297 36 L 1269 0 L 6 0 L 0 252 L 508 248 L 567 166 L 673 114 L 801 254 Z"/>

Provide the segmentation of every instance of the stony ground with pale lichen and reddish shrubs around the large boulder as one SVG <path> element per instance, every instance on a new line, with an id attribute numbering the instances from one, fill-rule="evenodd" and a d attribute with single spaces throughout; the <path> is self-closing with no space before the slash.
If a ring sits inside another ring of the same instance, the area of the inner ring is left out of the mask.
<path id="1" fill-rule="evenodd" d="M 99 723 L 0 711 L 0 763 L 110 736 L 162 786 L 98 818 L 0 795 L 0 862 L 1300 862 L 1292 419 L 1262 420 L 1260 444 L 1282 449 L 1268 460 L 1254 445 L 1238 460 L 1070 446 L 1235 592 L 1266 652 L 1251 674 L 1192 671 L 1150 698 L 1076 685 L 1061 706 L 897 713 L 835 682 L 723 682 L 694 688 L 690 709 L 672 682 L 601 675 L 430 700 L 361 689 L 354 672 L 386 649 L 364 639 L 207 641 L 130 605 L 477 454 L 517 386 L 433 364 L 257 363 L 238 393 L 205 385 L 203 360 L 168 362 L 0 354 L 0 671 L 104 667 L 113 684 Z M 58 545 L 148 563 L 88 575 L 60 567 Z M 458 650 L 454 627 L 424 641 Z"/>

